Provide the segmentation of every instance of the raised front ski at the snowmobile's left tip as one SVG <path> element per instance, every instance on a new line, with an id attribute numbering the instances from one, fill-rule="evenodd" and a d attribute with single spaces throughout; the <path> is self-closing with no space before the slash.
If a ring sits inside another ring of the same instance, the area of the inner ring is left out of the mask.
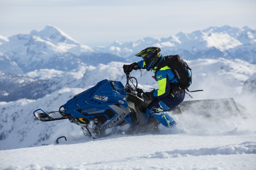
<path id="1" fill-rule="evenodd" d="M 37 111 L 42 111 L 43 113 L 39 113 Z M 59 111 L 50 111 L 50 112 L 45 112 L 42 109 L 37 109 L 33 112 L 34 116 L 40 120 L 40 121 L 54 121 L 54 120 L 62 120 L 62 119 L 67 119 L 68 117 L 62 116 Z"/>

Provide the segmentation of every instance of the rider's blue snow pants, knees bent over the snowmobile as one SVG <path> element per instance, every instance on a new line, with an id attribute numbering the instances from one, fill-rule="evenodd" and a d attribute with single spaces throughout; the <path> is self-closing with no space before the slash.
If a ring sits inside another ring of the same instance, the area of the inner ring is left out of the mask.
<path id="1" fill-rule="evenodd" d="M 149 123 L 150 114 L 155 117 L 161 124 L 166 127 L 174 127 L 176 125 L 175 120 L 171 118 L 166 111 L 172 110 L 178 106 L 185 98 L 185 91 L 171 93 L 164 98 L 156 98 L 147 107 L 145 112 L 146 123 Z"/>

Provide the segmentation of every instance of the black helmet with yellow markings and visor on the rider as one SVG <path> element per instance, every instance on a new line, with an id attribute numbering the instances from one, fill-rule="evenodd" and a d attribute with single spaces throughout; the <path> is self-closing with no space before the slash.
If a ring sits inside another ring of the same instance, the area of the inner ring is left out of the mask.
<path id="1" fill-rule="evenodd" d="M 150 71 L 162 58 L 160 51 L 161 50 L 158 47 L 148 47 L 135 55 L 142 57 L 145 62 L 144 68 L 146 68 L 147 71 Z"/>

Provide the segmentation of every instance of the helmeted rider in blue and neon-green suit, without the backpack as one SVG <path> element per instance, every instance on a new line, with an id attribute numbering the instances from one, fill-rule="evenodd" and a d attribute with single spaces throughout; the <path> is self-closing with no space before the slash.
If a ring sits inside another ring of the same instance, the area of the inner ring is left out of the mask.
<path id="1" fill-rule="evenodd" d="M 148 47 L 140 51 L 135 56 L 142 57 L 143 60 L 129 65 L 124 64 L 124 72 L 130 73 L 132 70 L 142 68 L 147 71 L 153 70 L 155 73 L 157 66 L 165 62 L 165 58 L 160 54 L 160 51 L 158 47 Z M 154 78 L 158 82 L 158 89 L 144 92 L 142 95 L 145 100 L 151 101 L 145 112 L 146 123 L 149 123 L 150 115 L 152 115 L 166 127 L 174 127 L 176 122 L 166 111 L 172 110 L 184 100 L 185 90 L 177 86 L 178 79 L 168 66 L 161 68 Z"/>

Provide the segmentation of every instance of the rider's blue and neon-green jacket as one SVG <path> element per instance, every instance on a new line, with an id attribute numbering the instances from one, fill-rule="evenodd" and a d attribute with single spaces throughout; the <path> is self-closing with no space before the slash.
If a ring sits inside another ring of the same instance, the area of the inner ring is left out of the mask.
<path id="1" fill-rule="evenodd" d="M 161 64 L 162 62 L 164 62 L 164 57 L 163 59 L 158 62 L 158 64 L 156 65 L 155 68 L 153 68 L 154 74 L 155 74 L 155 70 L 157 68 L 157 66 L 159 64 Z M 137 62 L 139 69 L 145 69 L 145 62 L 144 60 L 141 60 L 139 62 Z M 175 77 L 173 71 L 171 70 L 170 67 L 165 66 L 163 68 L 161 68 L 155 75 L 156 81 L 158 82 L 158 89 L 156 89 L 153 93 L 154 97 L 156 98 L 164 98 L 167 97 L 170 94 L 170 83 L 172 84 L 177 84 L 179 81 L 178 79 Z M 171 81 L 170 81 L 171 80 Z"/>

